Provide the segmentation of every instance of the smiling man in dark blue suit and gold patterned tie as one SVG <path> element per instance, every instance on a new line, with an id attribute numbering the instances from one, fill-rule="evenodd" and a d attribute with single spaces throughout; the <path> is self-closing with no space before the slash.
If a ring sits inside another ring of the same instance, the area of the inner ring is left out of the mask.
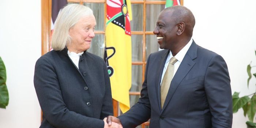
<path id="1" fill-rule="evenodd" d="M 154 34 L 161 51 L 148 56 L 141 98 L 111 121 L 134 128 L 231 128 L 232 96 L 225 60 L 198 46 L 195 17 L 184 6 L 164 9 Z"/>

